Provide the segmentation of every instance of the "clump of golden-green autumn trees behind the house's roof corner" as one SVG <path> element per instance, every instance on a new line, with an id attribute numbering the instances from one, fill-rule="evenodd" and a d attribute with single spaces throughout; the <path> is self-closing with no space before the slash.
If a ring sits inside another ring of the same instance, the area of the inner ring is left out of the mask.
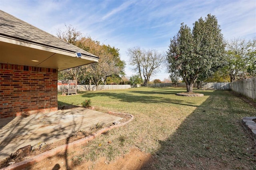
<path id="1" fill-rule="evenodd" d="M 120 59 L 119 49 L 110 45 L 101 45 L 99 41 L 94 41 L 91 37 L 82 37 L 81 33 L 71 26 L 65 31 L 59 31 L 58 37 L 64 39 L 100 57 L 98 63 L 92 63 L 76 68 L 70 68 L 59 73 L 64 79 L 78 80 L 80 84 L 98 85 L 106 82 L 106 78 L 112 75 L 123 75 L 125 62 Z"/>

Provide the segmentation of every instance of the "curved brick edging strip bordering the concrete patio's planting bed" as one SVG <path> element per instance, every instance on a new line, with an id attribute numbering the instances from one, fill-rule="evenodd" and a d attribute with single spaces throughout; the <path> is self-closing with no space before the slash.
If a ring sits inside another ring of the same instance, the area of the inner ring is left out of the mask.
<path id="1" fill-rule="evenodd" d="M 112 125 L 112 126 L 108 126 L 108 127 L 104 127 L 103 129 L 100 129 L 99 131 L 97 131 L 96 133 L 93 133 L 92 135 L 88 136 L 88 137 L 85 137 L 83 139 L 79 139 L 77 141 L 74 141 L 72 143 L 68 143 L 68 144 L 65 144 L 65 145 L 62 145 L 62 146 L 59 146 L 59 147 L 56 147 L 54 149 L 51 149 L 51 150 L 48 150 L 42 154 L 39 154 L 39 155 L 36 155 L 32 158 L 29 158 L 27 160 L 24 160 L 24 161 L 21 161 L 21 162 L 17 162 L 15 164 L 12 164 L 10 166 L 7 166 L 5 168 L 2 168 L 0 170 L 20 170 L 20 169 L 23 169 L 23 168 L 26 168 L 27 166 L 30 166 L 30 165 L 33 165 L 34 163 L 36 162 L 40 162 L 41 160 L 47 158 L 47 157 L 50 157 L 50 156 L 54 156 L 55 154 L 61 152 L 61 151 L 64 151 L 64 150 L 67 150 L 67 149 L 72 149 L 73 147 L 78 147 L 88 141 L 91 141 L 93 140 L 94 138 L 96 138 L 97 136 L 101 135 L 102 133 L 110 130 L 110 129 L 113 129 L 113 128 L 116 128 L 116 127 L 121 127 L 121 126 L 124 126 L 126 125 L 127 123 L 129 123 L 130 121 L 132 121 L 134 119 L 134 116 L 131 115 L 131 114 L 128 114 L 128 113 L 120 113 L 120 112 L 114 112 L 114 111 L 109 111 L 108 114 L 111 114 L 111 113 L 114 113 L 114 114 L 125 114 L 125 115 L 130 115 L 131 118 L 130 120 L 124 122 L 124 123 L 120 123 L 120 124 L 117 124 L 117 125 Z"/>

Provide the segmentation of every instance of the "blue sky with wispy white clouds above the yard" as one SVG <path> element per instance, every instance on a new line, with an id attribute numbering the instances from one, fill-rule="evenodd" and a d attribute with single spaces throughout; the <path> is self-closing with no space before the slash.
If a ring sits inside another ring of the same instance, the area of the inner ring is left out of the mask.
<path id="1" fill-rule="evenodd" d="M 3 10 L 48 33 L 73 25 L 83 35 L 120 49 L 128 64 L 127 49 L 140 46 L 166 52 L 170 38 L 184 22 L 207 14 L 216 16 L 226 40 L 256 37 L 256 0 L 0 0 Z M 166 66 L 151 78 L 168 78 Z"/>

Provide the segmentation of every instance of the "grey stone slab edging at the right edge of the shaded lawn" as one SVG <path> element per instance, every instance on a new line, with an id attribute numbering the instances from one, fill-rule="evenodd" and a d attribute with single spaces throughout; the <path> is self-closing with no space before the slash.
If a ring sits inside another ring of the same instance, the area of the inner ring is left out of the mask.
<path id="1" fill-rule="evenodd" d="M 244 117 L 242 119 L 242 123 L 244 125 L 244 129 L 249 133 L 256 145 L 256 122 L 253 121 L 253 119 L 256 119 L 256 117 Z"/>

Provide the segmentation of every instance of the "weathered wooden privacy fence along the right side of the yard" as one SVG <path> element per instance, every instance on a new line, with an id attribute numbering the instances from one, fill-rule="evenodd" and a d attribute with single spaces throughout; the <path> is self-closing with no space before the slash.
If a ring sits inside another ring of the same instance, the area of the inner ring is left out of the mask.
<path id="1" fill-rule="evenodd" d="M 256 77 L 231 82 L 231 90 L 256 101 Z"/>

